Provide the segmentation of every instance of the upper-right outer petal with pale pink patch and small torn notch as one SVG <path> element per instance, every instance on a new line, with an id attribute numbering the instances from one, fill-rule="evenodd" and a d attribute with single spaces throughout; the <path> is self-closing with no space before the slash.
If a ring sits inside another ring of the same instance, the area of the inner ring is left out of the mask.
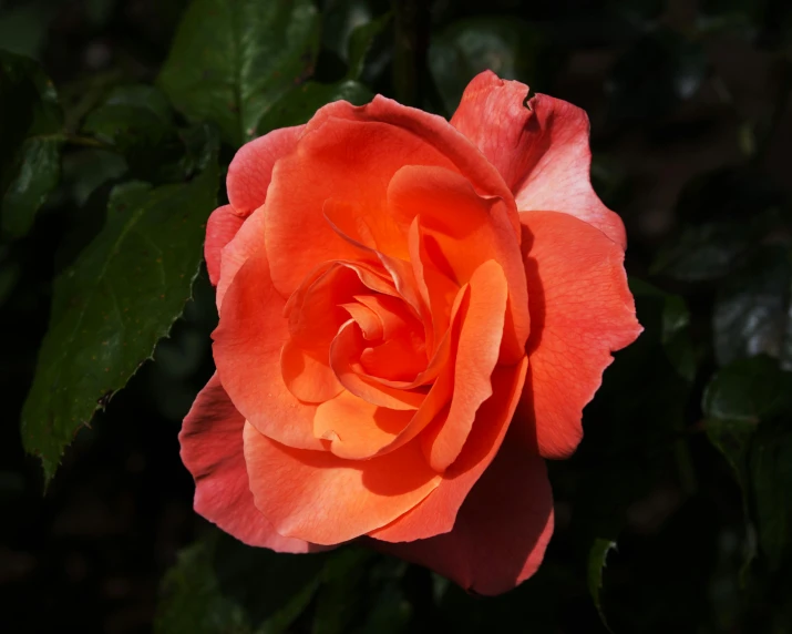
<path id="1" fill-rule="evenodd" d="M 526 105 L 527 94 L 524 83 L 484 71 L 467 84 L 451 124 L 498 168 L 521 212 L 572 214 L 624 248 L 621 219 L 592 188 L 585 111 L 546 94 Z"/>

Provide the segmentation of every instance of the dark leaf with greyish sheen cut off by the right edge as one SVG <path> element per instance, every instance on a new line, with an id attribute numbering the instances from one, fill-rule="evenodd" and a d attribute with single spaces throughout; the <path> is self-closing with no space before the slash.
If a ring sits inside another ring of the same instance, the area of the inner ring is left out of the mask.
<path id="1" fill-rule="evenodd" d="M 790 252 L 769 245 L 720 285 L 712 315 L 720 365 L 765 352 L 781 356 L 790 333 Z"/>

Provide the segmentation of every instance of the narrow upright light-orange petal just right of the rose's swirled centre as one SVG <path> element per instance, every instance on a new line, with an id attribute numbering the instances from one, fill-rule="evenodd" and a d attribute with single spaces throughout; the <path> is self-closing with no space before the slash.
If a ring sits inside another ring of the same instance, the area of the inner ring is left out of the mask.
<path id="1" fill-rule="evenodd" d="M 492 395 L 491 375 L 498 359 L 507 293 L 506 276 L 495 260 L 485 262 L 473 273 L 470 300 L 463 308 L 448 418 L 438 419 L 421 436 L 426 460 L 435 471 L 444 471 L 456 460 L 476 410 Z"/>

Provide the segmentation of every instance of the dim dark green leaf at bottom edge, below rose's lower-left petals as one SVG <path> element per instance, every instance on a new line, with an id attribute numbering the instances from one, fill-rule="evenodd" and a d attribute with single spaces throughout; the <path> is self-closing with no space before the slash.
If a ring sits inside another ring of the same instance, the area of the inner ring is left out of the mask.
<path id="1" fill-rule="evenodd" d="M 286 632 L 312 599 L 326 559 L 254 549 L 213 530 L 165 574 L 154 631 Z"/>

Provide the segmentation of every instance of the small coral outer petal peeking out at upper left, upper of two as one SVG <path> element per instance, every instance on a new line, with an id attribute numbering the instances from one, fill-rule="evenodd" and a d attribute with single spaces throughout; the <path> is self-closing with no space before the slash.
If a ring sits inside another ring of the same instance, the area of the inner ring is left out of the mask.
<path id="1" fill-rule="evenodd" d="M 228 165 L 228 201 L 240 216 L 264 205 L 275 162 L 295 149 L 305 125 L 280 127 L 243 145 Z"/>

